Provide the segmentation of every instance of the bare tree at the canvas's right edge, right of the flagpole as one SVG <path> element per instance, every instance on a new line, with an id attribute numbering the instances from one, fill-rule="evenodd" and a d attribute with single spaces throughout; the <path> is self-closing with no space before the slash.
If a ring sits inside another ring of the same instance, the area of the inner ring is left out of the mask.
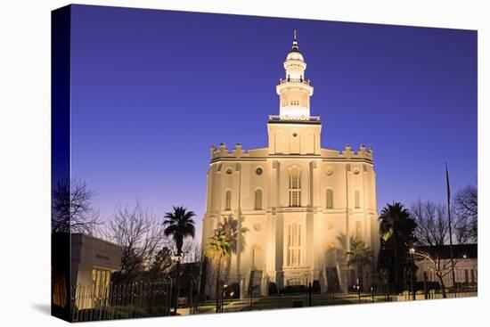
<path id="1" fill-rule="evenodd" d="M 461 241 L 478 241 L 478 188 L 468 185 L 456 192 L 453 198 L 453 212 L 457 217 L 454 225 Z M 460 241 L 460 240 L 458 240 Z"/>

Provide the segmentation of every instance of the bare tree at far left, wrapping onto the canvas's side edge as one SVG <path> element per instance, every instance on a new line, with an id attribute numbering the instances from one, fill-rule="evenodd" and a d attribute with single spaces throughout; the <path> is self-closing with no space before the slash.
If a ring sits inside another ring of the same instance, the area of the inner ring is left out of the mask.
<path id="1" fill-rule="evenodd" d="M 92 200 L 95 193 L 85 181 L 65 179 L 56 184 L 52 198 L 52 232 L 93 234 L 102 224 Z"/>

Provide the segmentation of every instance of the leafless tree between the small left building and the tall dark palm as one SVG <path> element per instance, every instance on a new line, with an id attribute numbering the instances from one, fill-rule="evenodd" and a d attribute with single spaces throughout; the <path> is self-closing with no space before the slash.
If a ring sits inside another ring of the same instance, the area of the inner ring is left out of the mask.
<path id="1" fill-rule="evenodd" d="M 133 208 L 118 208 L 105 234 L 122 248 L 121 271 L 115 282 L 131 282 L 150 269 L 154 255 L 166 241 L 157 216 L 139 202 Z"/>

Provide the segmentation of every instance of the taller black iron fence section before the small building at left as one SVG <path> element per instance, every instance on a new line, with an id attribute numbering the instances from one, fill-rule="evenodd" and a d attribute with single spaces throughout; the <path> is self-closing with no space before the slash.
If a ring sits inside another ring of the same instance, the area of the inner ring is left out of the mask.
<path id="1" fill-rule="evenodd" d="M 170 315 L 172 281 L 78 285 L 73 291 L 72 321 Z"/>

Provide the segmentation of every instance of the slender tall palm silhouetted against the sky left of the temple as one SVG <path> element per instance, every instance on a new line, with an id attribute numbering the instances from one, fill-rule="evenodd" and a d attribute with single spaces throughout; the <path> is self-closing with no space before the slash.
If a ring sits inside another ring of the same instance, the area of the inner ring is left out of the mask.
<path id="1" fill-rule="evenodd" d="M 180 261 L 182 258 L 182 247 L 184 245 L 184 239 L 186 237 L 194 238 L 196 233 L 195 222 L 192 217 L 195 217 L 193 211 L 187 211 L 187 208 L 174 206 L 173 212 L 165 213 L 165 220 L 163 226 L 165 229 L 163 233 L 165 236 L 172 236 L 172 239 L 176 242 L 176 302 L 174 307 L 174 314 L 177 313 L 179 289 L 180 289 Z"/>

